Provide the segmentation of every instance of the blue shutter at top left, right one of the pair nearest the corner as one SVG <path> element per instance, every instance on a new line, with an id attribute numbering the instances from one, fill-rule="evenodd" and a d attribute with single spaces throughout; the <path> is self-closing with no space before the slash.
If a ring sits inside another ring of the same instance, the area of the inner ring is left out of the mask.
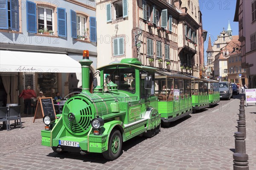
<path id="1" fill-rule="evenodd" d="M 19 0 L 11 0 L 11 29 L 19 31 Z"/>

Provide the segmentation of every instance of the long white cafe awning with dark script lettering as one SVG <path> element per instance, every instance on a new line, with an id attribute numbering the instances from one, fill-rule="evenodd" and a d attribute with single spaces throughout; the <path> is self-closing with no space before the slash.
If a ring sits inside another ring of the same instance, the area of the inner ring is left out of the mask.
<path id="1" fill-rule="evenodd" d="M 0 50 L 0 72 L 81 73 L 81 65 L 66 54 Z"/>

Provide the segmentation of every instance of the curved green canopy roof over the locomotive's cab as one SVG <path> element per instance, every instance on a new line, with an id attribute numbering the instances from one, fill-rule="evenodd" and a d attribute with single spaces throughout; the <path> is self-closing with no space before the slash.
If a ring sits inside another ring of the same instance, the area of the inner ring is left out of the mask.
<path id="1" fill-rule="evenodd" d="M 105 65 L 102 67 L 97 68 L 97 70 L 102 71 L 108 68 L 136 68 L 138 70 L 145 70 L 145 71 L 157 71 L 157 68 L 152 68 L 148 66 L 141 65 L 141 62 L 137 58 L 127 58 L 122 59 L 119 63 L 114 63 L 110 65 Z"/>

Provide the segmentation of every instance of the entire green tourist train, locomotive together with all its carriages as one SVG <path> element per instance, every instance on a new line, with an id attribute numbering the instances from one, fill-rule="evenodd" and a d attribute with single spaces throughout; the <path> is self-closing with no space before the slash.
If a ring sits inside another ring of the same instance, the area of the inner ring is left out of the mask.
<path id="1" fill-rule="evenodd" d="M 100 85 L 90 93 L 92 61 L 86 54 L 79 61 L 81 93 L 67 99 L 57 119 L 43 118 L 42 145 L 56 153 L 102 153 L 114 160 L 120 156 L 122 142 L 138 135 L 151 138 L 160 132 L 161 122 L 169 126 L 193 110 L 219 102 L 214 88 L 218 82 L 159 71 L 136 58 L 98 68 Z M 207 88 L 201 89 L 199 82 Z M 166 88 L 160 89 L 162 85 Z"/>

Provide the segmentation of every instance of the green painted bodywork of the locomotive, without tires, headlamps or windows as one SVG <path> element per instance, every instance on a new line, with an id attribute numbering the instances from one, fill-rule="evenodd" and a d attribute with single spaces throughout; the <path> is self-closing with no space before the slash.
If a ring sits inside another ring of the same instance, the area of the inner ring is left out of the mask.
<path id="1" fill-rule="evenodd" d="M 85 63 L 84 65 L 81 64 L 84 78 L 90 61 L 82 62 Z M 130 64 L 123 63 L 123 67 L 133 67 L 137 74 L 141 69 L 155 70 L 154 68 L 138 65 L 137 60 L 134 61 L 137 65 L 133 65 L 132 60 L 126 62 Z M 116 65 L 108 65 L 99 68 L 99 70 L 103 71 L 111 67 L 115 68 Z M 103 77 L 103 74 L 101 75 Z M 140 89 L 140 79 L 137 78 L 136 82 L 139 82 L 136 83 L 136 88 Z M 79 142 L 79 147 L 83 151 L 103 153 L 108 150 L 108 141 L 113 129 L 120 130 L 125 142 L 160 125 L 161 119 L 160 113 L 157 111 L 156 96 L 140 99 L 140 90 L 137 90 L 134 94 L 121 90 L 107 93 L 97 91 L 90 94 L 89 84 L 86 83 L 84 82 L 85 85 L 82 86 L 81 94 L 74 95 L 65 102 L 62 115 L 58 115 L 60 117 L 55 120 L 52 130 L 41 130 L 42 145 L 58 147 L 60 146 L 60 140 L 72 141 Z M 103 82 L 101 85 L 103 85 Z M 74 120 L 69 120 L 70 113 L 74 114 Z M 93 128 L 90 124 L 96 116 L 101 117 L 105 122 L 104 126 L 100 128 L 100 135 L 93 134 Z M 61 145 L 61 147 L 65 150 L 65 146 Z"/>

